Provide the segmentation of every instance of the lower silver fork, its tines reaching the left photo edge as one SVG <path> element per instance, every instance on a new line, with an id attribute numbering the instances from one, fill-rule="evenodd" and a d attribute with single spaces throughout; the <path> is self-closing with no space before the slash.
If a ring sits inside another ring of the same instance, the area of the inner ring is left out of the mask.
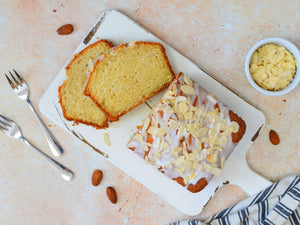
<path id="1" fill-rule="evenodd" d="M 5 134 L 12 138 L 19 138 L 24 141 L 28 146 L 31 146 L 34 150 L 36 150 L 44 159 L 46 159 L 52 166 L 54 166 L 61 174 L 62 178 L 66 181 L 70 181 L 73 179 L 74 174 L 71 170 L 61 165 L 59 162 L 50 158 L 44 152 L 39 150 L 33 144 L 31 144 L 21 132 L 20 127 L 12 120 L 6 118 L 5 116 L 0 115 L 0 130 L 2 130 Z"/>

